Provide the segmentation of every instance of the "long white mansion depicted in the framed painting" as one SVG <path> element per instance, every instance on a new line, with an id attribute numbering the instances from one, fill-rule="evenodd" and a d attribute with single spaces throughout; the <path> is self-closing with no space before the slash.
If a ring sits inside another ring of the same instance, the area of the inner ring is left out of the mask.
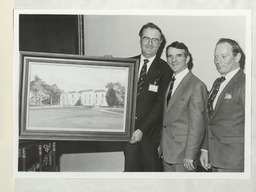
<path id="1" fill-rule="evenodd" d="M 64 92 L 60 95 L 61 106 L 108 106 L 106 90 L 85 89 L 79 92 Z"/>

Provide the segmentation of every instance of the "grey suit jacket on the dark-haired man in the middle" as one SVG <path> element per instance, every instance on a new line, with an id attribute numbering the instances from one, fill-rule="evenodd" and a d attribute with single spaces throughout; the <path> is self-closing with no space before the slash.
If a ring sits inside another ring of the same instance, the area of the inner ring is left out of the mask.
<path id="1" fill-rule="evenodd" d="M 184 157 L 195 160 L 205 134 L 207 88 L 190 71 L 178 85 L 168 106 L 167 92 L 161 139 L 164 160 L 170 164 L 183 163 Z"/>

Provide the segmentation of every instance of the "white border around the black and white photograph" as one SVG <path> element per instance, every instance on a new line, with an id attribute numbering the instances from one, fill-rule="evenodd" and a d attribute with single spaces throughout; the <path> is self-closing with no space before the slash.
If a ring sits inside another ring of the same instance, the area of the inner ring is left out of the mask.
<path id="1" fill-rule="evenodd" d="M 91 15 L 168 15 L 168 16 L 242 16 L 246 19 L 246 120 L 245 120 L 245 169 L 243 173 L 103 173 L 103 172 L 18 172 L 18 85 L 19 85 L 19 14 L 91 14 Z M 251 70 L 251 10 L 119 10 L 119 11 L 70 11 L 70 10 L 15 10 L 14 11 L 14 178 L 170 178 L 170 179 L 250 179 L 252 167 L 252 70 Z"/>

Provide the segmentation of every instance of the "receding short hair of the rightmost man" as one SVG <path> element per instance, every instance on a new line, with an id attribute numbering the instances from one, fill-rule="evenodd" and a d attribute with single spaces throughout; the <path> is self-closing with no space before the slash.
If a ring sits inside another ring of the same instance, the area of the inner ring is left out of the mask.
<path id="1" fill-rule="evenodd" d="M 240 45 L 233 39 L 228 39 L 228 38 L 220 38 L 219 41 L 216 43 L 216 46 L 218 44 L 221 44 L 221 43 L 228 43 L 231 45 L 232 47 L 232 53 L 233 53 L 233 56 L 237 56 L 238 53 L 241 54 L 241 59 L 239 61 L 240 63 L 240 67 L 242 69 L 244 69 L 244 65 L 245 65 L 245 54 L 242 50 L 242 48 L 240 47 Z"/>

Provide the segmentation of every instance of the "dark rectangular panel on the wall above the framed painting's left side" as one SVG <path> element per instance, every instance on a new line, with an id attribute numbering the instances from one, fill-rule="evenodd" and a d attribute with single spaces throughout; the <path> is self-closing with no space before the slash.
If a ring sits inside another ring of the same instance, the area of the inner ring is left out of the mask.
<path id="1" fill-rule="evenodd" d="M 20 15 L 19 50 L 79 54 L 78 15 Z"/>

